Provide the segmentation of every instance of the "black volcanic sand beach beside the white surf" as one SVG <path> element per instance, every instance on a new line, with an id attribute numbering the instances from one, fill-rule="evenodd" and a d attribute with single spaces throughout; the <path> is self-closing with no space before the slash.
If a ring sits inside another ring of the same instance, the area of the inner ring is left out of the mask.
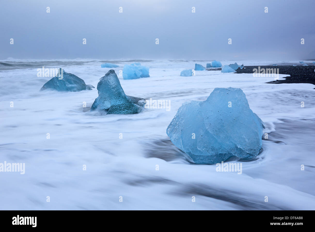
<path id="1" fill-rule="evenodd" d="M 244 66 L 245 69 L 238 68 L 236 73 L 254 73 L 253 69 L 258 66 Z M 315 85 L 315 64 L 308 64 L 308 66 L 298 65 L 278 65 L 278 66 L 260 66 L 260 68 L 279 68 L 279 74 L 288 74 L 289 77 L 284 77 L 285 80 L 274 80 L 266 82 L 268 84 L 282 84 L 282 83 L 310 83 Z"/>

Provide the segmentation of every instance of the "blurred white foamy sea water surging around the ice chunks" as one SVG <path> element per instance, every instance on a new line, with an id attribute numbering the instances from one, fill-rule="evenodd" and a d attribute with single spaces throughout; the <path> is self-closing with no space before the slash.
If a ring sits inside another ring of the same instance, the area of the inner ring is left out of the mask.
<path id="1" fill-rule="evenodd" d="M 96 88 L 39 91 L 51 77 L 37 77 L 37 68 L 63 68 L 96 87 L 111 69 L 100 68 L 105 62 L 119 65 L 113 69 L 127 95 L 166 100 L 169 109 L 101 115 L 89 111 L 98 96 Z M 130 62 L 148 66 L 150 77 L 123 80 L 119 70 Z M 314 86 L 266 84 L 274 78 L 215 70 L 180 76 L 183 69 L 207 62 L 0 61 L 0 163 L 25 163 L 23 175 L 0 172 L 0 209 L 314 210 Z M 222 65 L 234 62 L 221 61 Z M 236 62 L 245 67 L 298 63 Z M 250 108 L 266 124 L 268 139 L 256 158 L 226 161 L 242 163 L 241 175 L 217 172 L 215 164 L 192 164 L 166 134 L 181 104 L 203 101 L 216 87 L 241 88 Z"/>

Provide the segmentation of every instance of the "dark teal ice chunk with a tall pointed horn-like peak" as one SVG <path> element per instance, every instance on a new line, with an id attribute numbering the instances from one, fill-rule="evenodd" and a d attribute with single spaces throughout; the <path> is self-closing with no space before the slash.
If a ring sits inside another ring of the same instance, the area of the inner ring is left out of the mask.
<path id="1" fill-rule="evenodd" d="M 99 96 L 91 111 L 100 110 L 107 114 L 135 114 L 141 112 L 145 99 L 127 96 L 113 69 L 109 70 L 97 84 Z"/>

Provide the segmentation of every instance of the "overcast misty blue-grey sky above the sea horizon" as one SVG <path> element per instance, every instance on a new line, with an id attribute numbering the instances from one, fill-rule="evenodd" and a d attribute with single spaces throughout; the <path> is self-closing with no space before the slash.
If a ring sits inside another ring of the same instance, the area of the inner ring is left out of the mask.
<path id="1" fill-rule="evenodd" d="M 0 59 L 315 58 L 312 0 L 1 0 L 0 15 Z"/>

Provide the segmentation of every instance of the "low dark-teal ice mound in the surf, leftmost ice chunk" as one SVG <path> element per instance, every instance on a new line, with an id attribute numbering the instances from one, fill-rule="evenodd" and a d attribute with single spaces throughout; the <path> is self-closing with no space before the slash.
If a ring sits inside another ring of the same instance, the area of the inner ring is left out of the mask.
<path id="1" fill-rule="evenodd" d="M 40 90 L 53 89 L 62 92 L 76 92 L 81 90 L 92 90 L 92 88 L 95 88 L 92 85 L 86 85 L 84 80 L 78 78 L 76 75 L 66 73 L 65 70 L 59 68 L 58 73 L 61 74 L 61 72 L 62 75 L 58 76 L 57 74 L 55 77 L 51 78 Z"/>

